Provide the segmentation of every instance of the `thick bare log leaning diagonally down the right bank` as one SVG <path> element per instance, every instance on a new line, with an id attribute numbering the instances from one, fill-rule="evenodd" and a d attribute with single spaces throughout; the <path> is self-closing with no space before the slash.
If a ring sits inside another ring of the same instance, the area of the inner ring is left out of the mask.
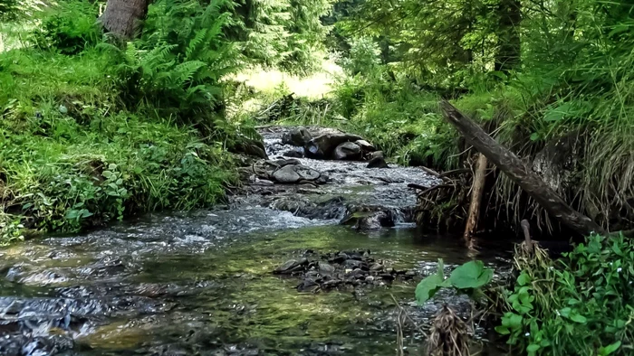
<path id="1" fill-rule="evenodd" d="M 454 108 L 447 100 L 440 102 L 440 108 L 443 110 L 445 119 L 455 126 L 462 136 L 465 136 L 469 145 L 473 145 L 476 150 L 485 155 L 491 163 L 522 187 L 524 192 L 528 193 L 554 218 L 584 236 L 592 232 L 605 234 L 605 230 L 599 224 L 572 209 L 536 173 L 526 168 L 516 155 L 495 142 L 491 136 L 486 135 L 480 126 Z"/>

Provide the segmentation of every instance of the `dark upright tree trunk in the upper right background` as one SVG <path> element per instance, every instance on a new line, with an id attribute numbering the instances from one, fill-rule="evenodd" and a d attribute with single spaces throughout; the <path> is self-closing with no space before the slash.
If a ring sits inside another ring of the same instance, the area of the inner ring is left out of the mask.
<path id="1" fill-rule="evenodd" d="M 508 72 L 520 62 L 520 23 L 522 22 L 522 4 L 520 0 L 500 0 L 498 7 L 499 48 L 495 54 L 495 70 Z"/>

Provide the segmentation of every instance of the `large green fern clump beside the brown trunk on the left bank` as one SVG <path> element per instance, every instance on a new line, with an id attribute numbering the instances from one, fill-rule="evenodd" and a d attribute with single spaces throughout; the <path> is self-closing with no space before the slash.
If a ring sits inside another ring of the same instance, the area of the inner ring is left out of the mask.
<path id="1" fill-rule="evenodd" d="M 117 52 L 121 95 L 131 106 L 178 117 L 208 135 L 222 108 L 221 78 L 238 69 L 238 53 L 223 28 L 230 22 L 226 0 L 162 0 L 149 8 L 144 34 Z"/>

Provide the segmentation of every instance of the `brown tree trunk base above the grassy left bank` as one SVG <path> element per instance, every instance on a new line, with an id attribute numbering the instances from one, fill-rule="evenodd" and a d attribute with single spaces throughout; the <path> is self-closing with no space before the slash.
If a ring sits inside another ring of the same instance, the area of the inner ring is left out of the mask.
<path id="1" fill-rule="evenodd" d="M 103 28 L 120 38 L 129 39 L 139 31 L 139 23 L 148 14 L 149 0 L 108 0 L 101 15 Z"/>

